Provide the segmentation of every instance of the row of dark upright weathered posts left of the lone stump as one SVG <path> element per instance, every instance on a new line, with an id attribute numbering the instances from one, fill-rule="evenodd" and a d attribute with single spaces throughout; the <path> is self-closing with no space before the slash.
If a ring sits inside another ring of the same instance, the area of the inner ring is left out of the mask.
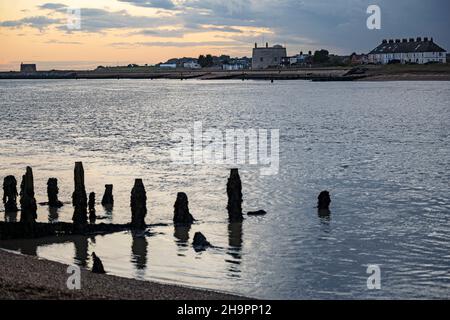
<path id="1" fill-rule="evenodd" d="M 58 180 L 50 178 L 47 182 L 48 204 L 50 207 L 61 207 L 63 203 L 58 199 Z M 6 212 L 17 212 L 17 198 L 20 195 L 20 222 L 34 223 L 37 219 L 37 203 L 34 194 L 33 170 L 26 168 L 20 184 L 20 193 L 17 192 L 17 180 L 14 176 L 7 176 L 3 181 L 3 203 Z M 230 221 L 243 220 L 242 214 L 242 184 L 238 169 L 231 169 L 227 183 L 228 216 Z M 72 221 L 74 226 L 83 227 L 88 224 L 88 218 L 95 222 L 95 193 L 86 193 L 84 183 L 84 168 L 82 162 L 75 163 L 74 169 L 74 192 L 72 194 L 72 205 L 74 214 Z M 113 185 L 105 186 L 102 198 L 103 206 L 113 206 Z M 147 193 L 142 179 L 136 179 L 130 198 L 131 227 L 134 229 L 145 229 L 145 217 L 147 215 Z M 89 215 L 88 215 L 89 214 Z M 192 224 L 195 219 L 189 212 L 189 201 L 185 193 L 180 192 L 174 205 L 175 224 Z"/>

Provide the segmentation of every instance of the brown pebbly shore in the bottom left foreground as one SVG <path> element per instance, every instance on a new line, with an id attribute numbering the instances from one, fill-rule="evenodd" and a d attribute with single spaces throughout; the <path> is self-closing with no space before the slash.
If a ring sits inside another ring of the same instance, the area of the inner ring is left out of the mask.
<path id="1" fill-rule="evenodd" d="M 236 300 L 242 297 L 81 271 L 67 289 L 67 265 L 0 250 L 0 299 Z"/>

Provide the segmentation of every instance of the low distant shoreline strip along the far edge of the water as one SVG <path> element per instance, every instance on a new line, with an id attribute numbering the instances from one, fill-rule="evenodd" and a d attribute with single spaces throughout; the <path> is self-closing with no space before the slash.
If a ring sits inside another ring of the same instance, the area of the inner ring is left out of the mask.
<path id="1" fill-rule="evenodd" d="M 0 72 L 1 79 L 174 79 L 174 80 L 312 80 L 312 81 L 450 81 L 450 64 L 360 65 L 302 69 L 155 70 L 104 68 L 92 71 L 38 71 L 31 74 Z"/>

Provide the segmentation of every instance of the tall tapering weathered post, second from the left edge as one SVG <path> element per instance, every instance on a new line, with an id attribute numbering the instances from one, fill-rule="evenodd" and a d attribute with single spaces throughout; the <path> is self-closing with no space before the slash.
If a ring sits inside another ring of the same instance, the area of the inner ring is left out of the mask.
<path id="1" fill-rule="evenodd" d="M 20 222 L 34 223 L 37 219 L 37 205 L 34 198 L 33 170 L 27 167 L 20 184 Z"/>

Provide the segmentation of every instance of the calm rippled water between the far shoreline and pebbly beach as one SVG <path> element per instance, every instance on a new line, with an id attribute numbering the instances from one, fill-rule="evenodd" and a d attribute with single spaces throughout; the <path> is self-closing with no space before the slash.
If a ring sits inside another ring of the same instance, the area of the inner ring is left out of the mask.
<path id="1" fill-rule="evenodd" d="M 0 82 L 0 178 L 35 175 L 36 198 L 57 177 L 70 201 L 75 161 L 99 201 L 114 184 L 116 205 L 97 214 L 130 220 L 129 195 L 142 177 L 147 237 L 4 242 L 5 248 L 106 269 L 141 280 L 258 298 L 450 297 L 450 84 L 64 80 Z M 265 217 L 228 224 L 223 166 L 171 162 L 171 133 L 204 128 L 280 129 L 280 173 L 243 166 L 244 210 Z M 332 194 L 330 217 L 315 207 Z M 174 229 L 177 192 L 199 222 Z M 6 216 L 1 204 L 1 215 Z M 69 221 L 39 207 L 40 221 Z M 216 248 L 196 253 L 201 231 Z M 381 268 L 379 291 L 366 268 Z"/>

